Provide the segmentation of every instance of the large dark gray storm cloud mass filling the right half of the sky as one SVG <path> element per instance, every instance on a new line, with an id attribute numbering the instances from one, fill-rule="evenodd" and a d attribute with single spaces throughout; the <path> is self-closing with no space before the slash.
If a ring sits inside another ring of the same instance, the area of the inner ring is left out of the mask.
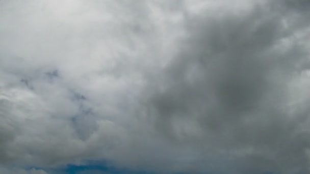
<path id="1" fill-rule="evenodd" d="M 302 130 L 309 110 L 307 103 L 291 106 L 289 94 L 309 65 L 300 44 L 306 39 L 295 37 L 309 23 L 296 26 L 307 12 L 288 3 L 281 10 L 264 4 L 248 13 L 189 19 L 180 52 L 150 86 L 154 129 L 205 149 L 205 165 L 214 156 L 231 158 L 226 172 L 309 172 L 309 137 Z M 283 23 L 291 17 L 292 23 Z M 201 129 L 199 136 L 182 128 L 188 120 Z"/>

